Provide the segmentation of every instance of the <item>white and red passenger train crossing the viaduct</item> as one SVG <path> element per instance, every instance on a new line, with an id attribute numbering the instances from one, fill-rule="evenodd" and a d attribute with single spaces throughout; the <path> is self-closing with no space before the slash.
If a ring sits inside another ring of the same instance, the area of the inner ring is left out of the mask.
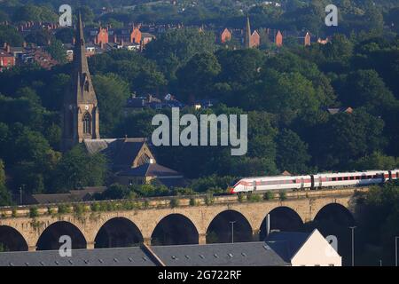
<path id="1" fill-rule="evenodd" d="M 399 170 L 364 170 L 320 173 L 306 176 L 245 177 L 228 188 L 228 193 L 379 185 L 399 179 Z"/>

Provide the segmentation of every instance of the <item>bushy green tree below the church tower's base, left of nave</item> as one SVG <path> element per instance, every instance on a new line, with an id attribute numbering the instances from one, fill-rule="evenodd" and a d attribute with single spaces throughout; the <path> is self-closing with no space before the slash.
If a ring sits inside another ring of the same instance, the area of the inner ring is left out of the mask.
<path id="1" fill-rule="evenodd" d="M 106 157 L 103 154 L 89 154 L 82 145 L 74 146 L 59 161 L 51 191 L 104 185 L 106 172 Z"/>

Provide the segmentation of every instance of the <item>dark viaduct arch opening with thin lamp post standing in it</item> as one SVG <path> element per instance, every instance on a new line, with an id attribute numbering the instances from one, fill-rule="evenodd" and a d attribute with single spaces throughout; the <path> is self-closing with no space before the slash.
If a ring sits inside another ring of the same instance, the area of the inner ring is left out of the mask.
<path id="1" fill-rule="evenodd" d="M 253 241 L 252 226 L 239 211 L 226 209 L 207 226 L 207 243 Z"/>

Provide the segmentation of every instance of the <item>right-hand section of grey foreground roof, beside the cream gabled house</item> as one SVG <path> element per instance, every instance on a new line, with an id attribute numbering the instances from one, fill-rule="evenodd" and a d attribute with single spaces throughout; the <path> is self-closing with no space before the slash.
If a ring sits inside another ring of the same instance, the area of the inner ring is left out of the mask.
<path id="1" fill-rule="evenodd" d="M 264 242 L 152 247 L 166 266 L 289 265 Z"/>

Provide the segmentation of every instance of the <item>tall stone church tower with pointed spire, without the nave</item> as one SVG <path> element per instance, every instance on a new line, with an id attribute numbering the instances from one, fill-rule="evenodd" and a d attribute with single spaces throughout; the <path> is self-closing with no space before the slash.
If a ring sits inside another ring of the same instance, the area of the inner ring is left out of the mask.
<path id="1" fill-rule="evenodd" d="M 71 85 L 64 97 L 62 114 L 62 151 L 71 149 L 83 139 L 98 139 L 98 102 L 91 83 L 86 58 L 81 14 L 78 16 Z"/>

